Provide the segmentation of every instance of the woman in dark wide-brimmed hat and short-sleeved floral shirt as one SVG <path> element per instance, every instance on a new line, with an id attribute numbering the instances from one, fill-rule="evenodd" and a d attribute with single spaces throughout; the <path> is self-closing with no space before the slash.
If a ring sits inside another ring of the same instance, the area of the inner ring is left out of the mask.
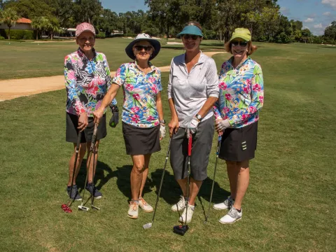
<path id="1" fill-rule="evenodd" d="M 144 200 L 142 193 L 148 176 L 151 154 L 160 151 L 160 140 L 165 137 L 161 72 L 149 62 L 160 52 L 160 42 L 148 34 L 139 34 L 127 45 L 125 51 L 134 62 L 119 67 L 111 89 L 94 116 L 95 121 L 99 123 L 104 108 L 116 97 L 120 86 L 123 86 L 123 136 L 126 153 L 131 155 L 133 161 L 132 200 L 128 216 L 138 218 L 139 207 L 146 212 L 153 211 L 153 207 Z"/>

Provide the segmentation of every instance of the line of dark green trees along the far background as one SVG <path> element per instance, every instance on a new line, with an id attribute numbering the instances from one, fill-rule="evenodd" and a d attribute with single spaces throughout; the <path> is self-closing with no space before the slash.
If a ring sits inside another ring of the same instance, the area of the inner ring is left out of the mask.
<path id="1" fill-rule="evenodd" d="M 12 27 L 18 17 L 29 18 L 41 34 L 52 37 L 64 29 L 90 22 L 97 36 L 111 36 L 114 30 L 134 36 L 174 37 L 189 20 L 203 27 L 204 38 L 227 41 L 236 27 L 250 29 L 254 41 L 274 43 L 335 43 L 336 21 L 323 36 L 302 29 L 300 20 L 288 20 L 277 0 L 144 0 L 149 10 L 116 13 L 103 8 L 99 0 L 0 0 L 0 21 Z"/>

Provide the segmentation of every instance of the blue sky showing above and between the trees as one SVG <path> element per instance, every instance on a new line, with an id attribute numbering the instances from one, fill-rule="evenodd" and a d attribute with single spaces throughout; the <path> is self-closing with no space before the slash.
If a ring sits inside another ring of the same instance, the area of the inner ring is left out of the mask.
<path id="1" fill-rule="evenodd" d="M 148 10 L 144 0 L 101 0 L 104 8 L 116 13 Z M 303 28 L 321 35 L 330 22 L 336 20 L 336 0 L 278 0 L 281 13 L 289 20 L 300 20 Z"/>

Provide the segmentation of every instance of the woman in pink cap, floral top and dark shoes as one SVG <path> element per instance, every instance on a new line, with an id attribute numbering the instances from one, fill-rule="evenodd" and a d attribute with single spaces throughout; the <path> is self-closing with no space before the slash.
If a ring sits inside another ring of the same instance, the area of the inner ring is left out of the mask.
<path id="1" fill-rule="evenodd" d="M 73 143 L 73 154 L 69 161 L 69 181 L 66 193 L 72 200 L 81 200 L 76 186 L 76 176 L 80 164 L 87 151 L 90 155 L 90 144 L 94 130 L 93 112 L 102 104 L 107 90 L 111 86 L 109 64 L 102 52 L 94 50 L 96 32 L 94 27 L 86 22 L 76 27 L 76 43 L 79 46 L 76 52 L 66 55 L 64 59 L 64 76 L 66 86 L 66 141 Z M 116 105 L 114 99 L 110 107 Z M 76 155 L 76 142 L 81 132 L 78 160 L 76 162 L 75 177 L 72 178 L 74 161 Z M 102 117 L 97 131 L 96 150 L 98 151 L 99 140 L 106 137 L 106 116 Z M 97 158 L 95 162 L 97 165 Z M 93 162 L 90 162 L 88 169 L 87 185 L 88 190 L 94 198 L 100 199 L 100 193 L 94 186 Z M 72 190 L 71 190 L 71 185 Z"/>

